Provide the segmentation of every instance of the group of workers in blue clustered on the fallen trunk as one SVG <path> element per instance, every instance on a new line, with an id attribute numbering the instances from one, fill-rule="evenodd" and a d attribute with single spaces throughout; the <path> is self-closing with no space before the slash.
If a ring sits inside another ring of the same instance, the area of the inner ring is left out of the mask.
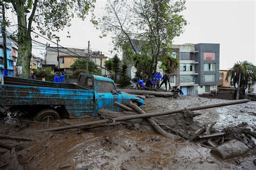
<path id="1" fill-rule="evenodd" d="M 178 90 L 179 94 L 183 94 L 181 91 L 181 86 L 175 89 L 171 88 L 170 76 L 168 76 L 166 73 L 164 74 L 164 76 L 162 76 L 160 72 L 156 72 L 156 74 L 154 74 L 154 79 L 152 79 L 150 76 L 147 76 L 145 81 L 145 86 L 144 86 L 144 80 L 140 79 L 137 76 L 134 77 L 130 81 L 130 83 L 134 89 L 138 87 L 138 89 L 145 89 L 145 90 L 152 90 L 153 87 L 160 89 L 163 84 L 165 84 L 165 90 L 167 90 L 167 83 L 169 83 L 169 90 Z"/>

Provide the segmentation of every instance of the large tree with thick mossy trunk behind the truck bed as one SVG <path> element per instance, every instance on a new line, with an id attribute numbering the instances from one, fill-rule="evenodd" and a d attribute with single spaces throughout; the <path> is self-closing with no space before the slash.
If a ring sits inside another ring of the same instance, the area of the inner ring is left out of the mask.
<path id="1" fill-rule="evenodd" d="M 48 38 L 55 38 L 55 32 L 71 26 L 71 19 L 79 17 L 85 19 L 89 10 L 93 10 L 95 0 L 4 0 L 5 6 L 12 8 L 17 15 L 18 30 L 18 59 L 17 66 L 22 68 L 21 77 L 29 77 L 32 51 L 31 32 L 40 31 Z"/>

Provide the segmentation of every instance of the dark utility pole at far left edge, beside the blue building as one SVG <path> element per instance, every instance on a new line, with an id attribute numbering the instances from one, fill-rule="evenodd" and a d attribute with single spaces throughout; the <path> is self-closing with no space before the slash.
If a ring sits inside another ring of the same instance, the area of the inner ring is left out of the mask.
<path id="1" fill-rule="evenodd" d="M 5 9 L 4 3 L 2 4 L 2 36 L 3 36 L 3 53 L 4 53 L 4 76 L 8 76 L 8 68 L 7 68 L 7 53 L 6 53 L 6 34 L 5 34 Z"/>

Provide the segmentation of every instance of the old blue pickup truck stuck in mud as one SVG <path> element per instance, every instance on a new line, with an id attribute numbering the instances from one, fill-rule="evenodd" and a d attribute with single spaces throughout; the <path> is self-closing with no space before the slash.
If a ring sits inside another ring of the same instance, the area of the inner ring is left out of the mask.
<path id="1" fill-rule="evenodd" d="M 2 77 L 0 107 L 12 113 L 35 115 L 36 121 L 97 116 L 99 109 L 119 111 L 114 102 L 130 100 L 139 107 L 144 96 L 117 90 L 113 80 L 82 73 L 77 84 Z"/>

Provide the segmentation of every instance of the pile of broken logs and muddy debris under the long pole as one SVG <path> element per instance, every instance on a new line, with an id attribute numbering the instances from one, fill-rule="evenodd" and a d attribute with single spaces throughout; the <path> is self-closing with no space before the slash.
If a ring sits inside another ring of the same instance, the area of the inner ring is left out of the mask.
<path id="1" fill-rule="evenodd" d="M 99 115 L 102 119 L 114 119 L 136 113 L 146 114 L 135 104 L 129 103 L 127 106 L 116 103 L 123 112 L 113 112 L 100 110 Z M 222 159 L 239 157 L 247 153 L 250 149 L 255 152 L 253 138 L 256 133 L 247 128 L 248 124 L 242 123 L 238 126 L 225 129 L 215 129 L 211 124 L 200 126 L 199 122 L 194 121 L 193 117 L 200 114 L 194 114 L 192 111 L 183 110 L 180 114 L 165 115 L 161 117 L 136 119 L 133 121 L 123 121 L 127 128 L 134 128 L 140 131 L 145 130 L 143 126 L 151 125 L 161 135 L 172 139 L 183 139 L 184 141 L 195 141 L 200 146 L 211 149 L 211 153 Z M 146 123 L 147 122 L 147 123 Z"/>

